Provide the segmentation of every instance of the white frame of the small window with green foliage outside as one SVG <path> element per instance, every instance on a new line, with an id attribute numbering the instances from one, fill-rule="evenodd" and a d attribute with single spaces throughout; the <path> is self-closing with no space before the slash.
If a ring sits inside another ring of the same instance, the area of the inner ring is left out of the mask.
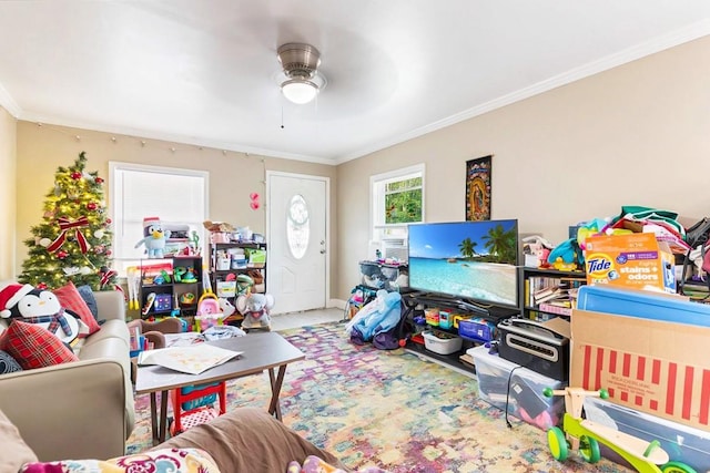
<path id="1" fill-rule="evenodd" d="M 404 238 L 405 243 L 407 240 L 408 224 L 385 224 L 385 187 L 392 182 L 422 177 L 422 222 L 426 222 L 424 205 L 426 202 L 425 171 L 425 165 L 422 163 L 369 177 L 369 222 L 373 243 L 382 243 L 386 238 Z"/>

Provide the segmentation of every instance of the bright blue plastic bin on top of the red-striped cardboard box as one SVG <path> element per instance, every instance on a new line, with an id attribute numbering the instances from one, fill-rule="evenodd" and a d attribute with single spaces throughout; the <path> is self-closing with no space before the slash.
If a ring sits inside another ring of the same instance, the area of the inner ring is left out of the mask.
<path id="1" fill-rule="evenodd" d="M 710 306 L 652 291 L 582 286 L 577 309 L 710 327 Z"/>

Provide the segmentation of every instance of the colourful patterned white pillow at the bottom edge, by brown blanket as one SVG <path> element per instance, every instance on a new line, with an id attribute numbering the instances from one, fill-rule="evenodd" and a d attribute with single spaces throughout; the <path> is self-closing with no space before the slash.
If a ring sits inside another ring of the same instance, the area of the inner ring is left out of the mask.
<path id="1" fill-rule="evenodd" d="M 220 473 L 220 469 L 214 464 L 212 457 L 197 449 L 161 449 L 106 461 L 63 460 L 48 463 L 28 463 L 18 473 L 128 473 L 138 471 Z"/>

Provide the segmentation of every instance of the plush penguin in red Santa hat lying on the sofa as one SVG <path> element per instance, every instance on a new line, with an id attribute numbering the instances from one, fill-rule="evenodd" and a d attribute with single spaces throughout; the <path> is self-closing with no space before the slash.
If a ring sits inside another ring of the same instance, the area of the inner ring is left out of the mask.
<path id="1" fill-rule="evenodd" d="M 63 309 L 52 291 L 31 285 L 10 284 L 0 290 L 0 317 L 7 323 L 12 319 L 39 323 L 64 343 L 79 336 L 79 316 Z"/>

